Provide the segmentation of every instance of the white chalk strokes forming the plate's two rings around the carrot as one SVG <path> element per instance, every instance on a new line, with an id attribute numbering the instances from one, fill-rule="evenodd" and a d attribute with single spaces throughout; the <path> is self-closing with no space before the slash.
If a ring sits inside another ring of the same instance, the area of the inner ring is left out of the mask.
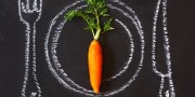
<path id="1" fill-rule="evenodd" d="M 57 47 L 57 41 L 58 41 L 58 38 L 61 36 L 62 28 L 66 24 L 65 19 L 58 19 L 58 18 L 64 17 L 64 14 L 67 13 L 68 9 L 70 9 L 73 6 L 78 6 L 78 4 L 80 4 L 81 2 L 83 2 L 83 0 L 76 1 L 75 3 L 73 3 L 73 4 L 70 4 L 68 6 L 65 6 L 64 10 L 62 10 L 52 19 L 52 22 L 50 24 L 49 31 L 47 33 L 46 42 L 44 42 L 44 53 L 46 53 L 46 59 L 47 59 L 49 69 L 51 70 L 53 75 L 58 80 L 58 82 L 61 84 L 63 84 L 63 86 L 65 88 L 72 89 L 74 92 L 77 92 L 77 93 L 80 93 L 80 94 L 83 94 L 83 95 L 87 95 L 87 96 L 102 96 L 102 95 L 112 96 L 112 95 L 118 94 L 118 93 L 125 91 L 128 86 L 131 85 L 131 83 L 135 80 L 135 78 L 138 77 L 139 72 L 141 71 L 142 66 L 143 66 L 145 42 L 144 42 L 144 36 L 143 36 L 143 30 L 142 30 L 141 23 L 140 23 L 138 16 L 135 15 L 134 11 L 130 6 L 128 6 L 127 4 L 125 4 L 123 2 L 121 2 L 119 0 L 109 0 L 108 1 L 108 3 L 109 3 L 108 8 L 109 9 L 118 11 L 119 13 L 121 13 L 121 15 L 123 15 L 126 18 L 131 20 L 131 23 L 133 23 L 133 25 L 135 26 L 135 28 L 138 30 L 138 33 L 140 36 L 140 42 L 141 42 L 141 44 L 140 44 L 140 46 L 141 46 L 141 51 L 140 51 L 141 59 L 140 59 L 140 64 L 139 64 L 139 67 L 136 69 L 136 71 L 134 72 L 132 78 L 130 78 L 129 81 L 126 84 L 123 84 L 121 87 L 118 87 L 117 89 L 114 89 L 112 92 L 105 92 L 105 93 L 101 93 L 99 95 L 95 95 L 93 93 L 93 91 L 89 91 L 89 89 L 76 84 L 72 79 L 68 78 L 66 72 L 62 69 L 61 64 L 58 63 L 58 59 L 57 59 L 57 56 L 56 56 L 57 51 L 55 50 Z M 123 10 L 121 10 L 121 9 L 119 9 L 117 6 L 112 5 L 112 3 L 116 3 L 116 4 L 120 5 L 121 8 L 125 8 L 128 12 L 125 12 Z M 84 6 L 86 5 L 81 5 L 81 6 L 78 6 L 77 9 L 82 9 Z M 58 24 L 58 20 L 60 20 L 60 24 Z M 125 67 L 122 67 L 122 69 L 117 74 L 109 78 L 109 80 L 116 79 L 117 77 L 119 77 L 123 72 L 126 72 L 126 70 L 128 69 L 128 67 L 129 67 L 129 65 L 131 63 L 132 55 L 133 55 L 133 52 L 134 52 L 134 50 L 133 50 L 134 45 L 133 45 L 132 36 L 131 36 L 128 27 L 122 22 L 120 22 L 119 19 L 115 19 L 115 22 L 120 24 L 120 26 L 122 26 L 125 28 L 125 30 L 127 31 L 127 33 L 128 33 L 128 36 L 130 38 L 130 43 L 131 43 L 131 45 L 130 45 L 131 54 L 129 55 L 129 60 L 127 61 L 127 65 L 125 65 Z M 54 28 L 55 25 L 57 25 L 56 29 Z M 51 36 L 51 32 L 54 32 L 54 36 Z M 51 46 L 49 46 L 49 45 L 51 45 Z"/>

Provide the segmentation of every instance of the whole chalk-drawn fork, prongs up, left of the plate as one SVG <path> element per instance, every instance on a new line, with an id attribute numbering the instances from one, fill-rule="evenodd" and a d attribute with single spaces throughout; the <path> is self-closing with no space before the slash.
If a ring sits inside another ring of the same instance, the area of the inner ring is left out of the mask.
<path id="1" fill-rule="evenodd" d="M 36 23 L 41 17 L 41 0 L 32 2 L 18 0 L 20 20 L 26 26 L 25 74 L 22 97 L 41 97 L 41 88 L 36 74 Z"/>

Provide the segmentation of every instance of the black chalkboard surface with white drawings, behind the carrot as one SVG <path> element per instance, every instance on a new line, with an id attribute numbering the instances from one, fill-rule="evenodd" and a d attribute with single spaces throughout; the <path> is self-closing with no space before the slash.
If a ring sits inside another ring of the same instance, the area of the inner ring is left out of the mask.
<path id="1" fill-rule="evenodd" d="M 0 97 L 195 97 L 194 0 L 106 0 L 116 29 L 100 39 L 99 95 L 92 34 L 64 19 L 83 0 L 34 1 L 0 0 Z"/>

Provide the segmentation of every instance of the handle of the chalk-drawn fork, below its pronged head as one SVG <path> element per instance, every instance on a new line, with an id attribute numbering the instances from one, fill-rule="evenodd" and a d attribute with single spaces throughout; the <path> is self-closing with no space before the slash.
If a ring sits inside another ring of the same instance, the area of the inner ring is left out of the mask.
<path id="1" fill-rule="evenodd" d="M 22 97 L 41 97 L 36 74 L 36 23 L 26 24 L 25 75 Z"/>

